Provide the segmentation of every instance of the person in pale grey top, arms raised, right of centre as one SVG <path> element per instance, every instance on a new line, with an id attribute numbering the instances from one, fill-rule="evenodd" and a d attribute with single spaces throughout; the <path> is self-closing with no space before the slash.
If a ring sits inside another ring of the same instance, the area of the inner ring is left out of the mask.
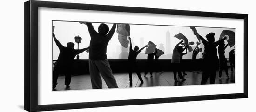
<path id="1" fill-rule="evenodd" d="M 185 81 L 186 79 L 184 79 L 184 77 L 182 76 L 182 71 L 181 71 L 181 54 L 183 52 L 183 47 L 179 46 L 181 43 L 183 42 L 183 40 L 181 42 L 179 42 L 173 49 L 173 54 L 172 54 L 172 65 L 173 65 L 173 75 L 174 75 L 174 81 L 178 81 L 177 80 L 177 72 L 178 72 L 178 76 L 180 77 L 180 79 L 182 79 L 182 81 Z"/>

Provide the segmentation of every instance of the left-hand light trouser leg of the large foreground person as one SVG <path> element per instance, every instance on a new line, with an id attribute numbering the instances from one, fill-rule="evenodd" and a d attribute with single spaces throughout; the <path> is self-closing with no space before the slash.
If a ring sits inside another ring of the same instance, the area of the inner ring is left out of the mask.
<path id="1" fill-rule="evenodd" d="M 89 71 L 93 89 L 102 89 L 102 80 L 94 60 L 89 60 Z"/>

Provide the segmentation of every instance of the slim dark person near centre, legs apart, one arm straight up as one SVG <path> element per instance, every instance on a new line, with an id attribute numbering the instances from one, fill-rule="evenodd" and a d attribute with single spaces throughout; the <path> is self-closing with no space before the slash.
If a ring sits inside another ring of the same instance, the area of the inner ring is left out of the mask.
<path id="1" fill-rule="evenodd" d="M 142 47 L 140 50 L 138 46 L 135 46 L 133 50 L 131 38 L 129 37 L 129 39 L 130 39 L 130 52 L 128 56 L 128 72 L 129 72 L 130 84 L 133 83 L 133 78 L 132 78 L 133 72 L 137 73 L 138 78 L 140 79 L 141 83 L 143 83 L 143 79 L 141 78 L 141 73 L 137 66 L 136 58 L 137 58 L 137 55 L 141 52 L 141 50 L 143 50 L 146 46 Z"/>

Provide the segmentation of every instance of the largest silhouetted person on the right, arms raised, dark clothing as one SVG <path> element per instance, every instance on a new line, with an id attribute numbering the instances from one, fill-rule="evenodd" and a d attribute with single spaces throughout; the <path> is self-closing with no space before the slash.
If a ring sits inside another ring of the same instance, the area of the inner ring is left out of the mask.
<path id="1" fill-rule="evenodd" d="M 218 56 L 217 56 L 217 46 L 221 41 L 224 41 L 226 37 L 223 39 L 216 41 L 214 39 L 215 33 L 209 33 L 206 35 L 205 40 L 201 35 L 200 40 L 204 45 L 204 53 L 203 53 L 203 66 L 202 66 L 202 81 L 201 85 L 206 84 L 208 78 L 210 77 L 210 84 L 215 83 L 216 78 L 216 70 L 218 68 Z"/>

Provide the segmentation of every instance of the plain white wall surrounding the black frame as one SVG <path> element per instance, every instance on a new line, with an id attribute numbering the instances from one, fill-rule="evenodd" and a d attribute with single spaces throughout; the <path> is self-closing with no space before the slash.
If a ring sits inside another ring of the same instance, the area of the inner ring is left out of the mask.
<path id="1" fill-rule="evenodd" d="M 222 13 L 249 14 L 249 98 L 131 105 L 54 112 L 255 112 L 256 75 L 254 53 L 256 11 L 253 0 L 48 0 L 88 4 L 153 7 Z M 0 112 L 25 112 L 24 107 L 24 4 L 25 0 L 5 0 L 0 4 Z M 211 106 L 213 105 L 213 107 Z"/>

